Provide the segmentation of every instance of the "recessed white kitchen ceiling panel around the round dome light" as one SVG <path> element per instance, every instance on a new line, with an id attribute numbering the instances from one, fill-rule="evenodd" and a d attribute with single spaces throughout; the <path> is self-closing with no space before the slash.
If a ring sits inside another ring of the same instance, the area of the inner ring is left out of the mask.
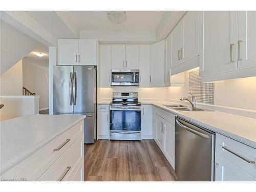
<path id="1" fill-rule="evenodd" d="M 154 31 L 165 11 L 126 11 L 127 19 L 120 24 L 110 22 L 107 11 L 63 11 L 79 31 Z"/>

